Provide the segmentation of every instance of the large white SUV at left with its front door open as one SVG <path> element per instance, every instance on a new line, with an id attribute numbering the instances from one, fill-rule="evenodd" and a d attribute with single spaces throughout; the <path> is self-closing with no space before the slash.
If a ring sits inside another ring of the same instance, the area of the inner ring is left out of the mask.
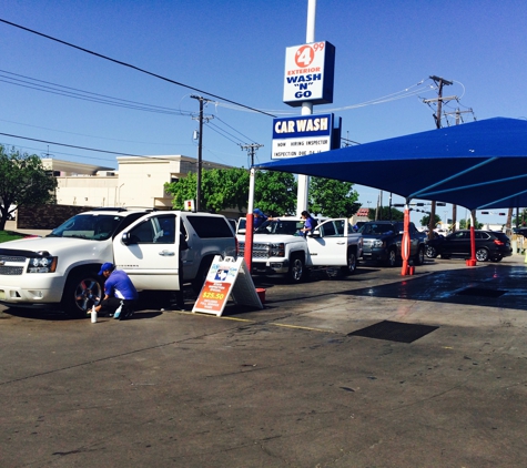
<path id="1" fill-rule="evenodd" d="M 201 289 L 215 255 L 236 255 L 235 233 L 209 213 L 93 210 L 45 237 L 0 244 L 0 303 L 85 314 L 101 301 L 105 262 L 139 291 L 178 291 L 180 254 L 184 281 Z"/>

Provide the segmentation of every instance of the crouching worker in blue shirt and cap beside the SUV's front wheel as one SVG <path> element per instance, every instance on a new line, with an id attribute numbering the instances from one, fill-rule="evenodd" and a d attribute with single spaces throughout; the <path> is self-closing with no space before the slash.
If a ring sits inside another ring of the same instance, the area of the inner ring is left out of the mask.
<path id="1" fill-rule="evenodd" d="M 125 272 L 115 269 L 113 263 L 105 263 L 101 266 L 99 275 L 104 276 L 104 298 L 95 307 L 98 314 L 113 315 L 121 306 L 122 309 L 115 318 L 120 321 L 130 318 L 138 302 L 138 289 L 133 285 Z"/>

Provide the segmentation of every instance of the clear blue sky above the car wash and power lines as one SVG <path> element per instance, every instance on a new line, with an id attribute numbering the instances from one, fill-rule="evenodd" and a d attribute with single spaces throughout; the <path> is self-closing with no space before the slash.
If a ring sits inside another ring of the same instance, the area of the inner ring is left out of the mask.
<path id="1" fill-rule="evenodd" d="M 203 92 L 0 23 L 0 132 L 129 154 L 196 156 L 192 113 L 199 104 L 192 94 L 216 94 L 277 116 L 300 114 L 282 102 L 283 75 L 285 49 L 305 42 L 306 16 L 307 0 L 3 0 L 2 20 Z M 478 120 L 526 118 L 526 19 L 527 2 L 519 0 L 317 0 L 315 40 L 335 45 L 336 65 L 334 102 L 314 112 L 341 116 L 343 136 L 359 143 L 432 130 L 435 109 L 423 99 L 437 96 L 428 77 L 438 75 L 454 82 L 444 95 L 460 98 L 447 111 L 473 109 Z M 36 83 L 134 104 L 105 105 L 28 88 Z M 135 103 L 155 112 L 130 109 Z M 247 167 L 240 144 L 259 143 L 264 146 L 256 161 L 270 161 L 271 116 L 222 101 L 209 104 L 205 115 L 214 118 L 203 131 L 204 160 Z M 463 116 L 473 120 L 470 113 Z M 116 165 L 113 154 L 6 135 L 0 143 Z M 375 205 L 378 191 L 356 189 L 364 206 Z M 497 215 L 478 218 L 505 222 Z"/>

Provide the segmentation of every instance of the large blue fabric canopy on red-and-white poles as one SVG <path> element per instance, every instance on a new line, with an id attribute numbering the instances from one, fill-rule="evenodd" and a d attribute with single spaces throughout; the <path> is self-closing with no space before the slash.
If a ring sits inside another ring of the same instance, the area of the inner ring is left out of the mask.
<path id="1" fill-rule="evenodd" d="M 469 210 L 527 206 L 527 121 L 495 118 L 257 164 Z"/>

